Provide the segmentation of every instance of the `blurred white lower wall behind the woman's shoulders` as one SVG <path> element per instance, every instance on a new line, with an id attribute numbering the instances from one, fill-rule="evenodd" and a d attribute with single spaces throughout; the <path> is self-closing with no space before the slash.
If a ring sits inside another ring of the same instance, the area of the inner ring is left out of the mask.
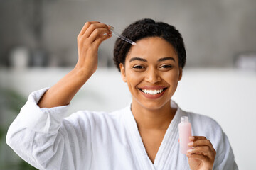
<path id="1" fill-rule="evenodd" d="M 52 86 L 70 69 L 0 70 L 1 86 L 28 96 Z M 3 81 L 4 80 L 4 81 Z M 228 135 L 240 169 L 254 169 L 256 72 L 235 69 L 185 69 L 174 100 L 183 110 L 209 115 Z M 131 101 L 116 69 L 98 69 L 72 101 L 74 111 L 113 111 Z"/>

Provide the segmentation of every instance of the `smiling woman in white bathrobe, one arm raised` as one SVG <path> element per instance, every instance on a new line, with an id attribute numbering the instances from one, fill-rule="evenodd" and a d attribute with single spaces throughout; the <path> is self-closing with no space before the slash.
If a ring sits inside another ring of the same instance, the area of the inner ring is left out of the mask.
<path id="1" fill-rule="evenodd" d="M 6 141 L 14 151 L 38 169 L 238 169 L 218 123 L 171 101 L 186 50 L 181 34 L 166 23 L 132 23 L 122 35 L 137 45 L 115 44 L 114 63 L 132 94 L 127 108 L 65 118 L 71 99 L 97 69 L 100 43 L 111 35 L 104 23 L 85 23 L 75 68 L 50 89 L 33 92 L 10 126 Z M 187 154 L 178 147 L 183 115 L 196 135 Z"/>

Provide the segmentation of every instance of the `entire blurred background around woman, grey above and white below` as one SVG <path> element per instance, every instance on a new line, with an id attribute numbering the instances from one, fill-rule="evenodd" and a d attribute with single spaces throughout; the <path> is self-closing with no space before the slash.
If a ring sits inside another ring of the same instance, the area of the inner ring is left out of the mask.
<path id="1" fill-rule="evenodd" d="M 6 145 L 11 122 L 31 91 L 52 86 L 78 59 L 86 21 L 122 33 L 153 18 L 176 26 L 187 50 L 173 99 L 220 123 L 240 169 L 255 169 L 256 1 L 0 0 L 0 169 L 33 169 Z M 78 110 L 113 111 L 131 101 L 112 62 L 115 36 L 99 49 L 99 68 L 72 101 Z"/>

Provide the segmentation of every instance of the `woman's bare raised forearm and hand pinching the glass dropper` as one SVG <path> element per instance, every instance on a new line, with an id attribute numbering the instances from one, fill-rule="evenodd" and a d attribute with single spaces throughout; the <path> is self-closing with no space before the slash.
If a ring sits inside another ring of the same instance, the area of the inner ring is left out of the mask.
<path id="1" fill-rule="evenodd" d="M 110 38 L 110 28 L 104 23 L 87 22 L 78 35 L 78 62 L 57 84 L 52 86 L 38 102 L 40 108 L 64 106 L 97 69 L 97 50 L 101 42 Z"/>

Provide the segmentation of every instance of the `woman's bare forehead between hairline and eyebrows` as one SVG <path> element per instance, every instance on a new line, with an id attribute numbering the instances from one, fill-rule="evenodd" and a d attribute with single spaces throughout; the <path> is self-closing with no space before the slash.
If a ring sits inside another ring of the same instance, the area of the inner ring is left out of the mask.
<path id="1" fill-rule="evenodd" d="M 176 50 L 170 42 L 160 37 L 150 37 L 138 40 L 137 45 L 132 45 L 126 60 L 130 57 L 144 57 L 144 58 L 157 58 L 157 57 L 174 57 L 178 60 Z"/>

